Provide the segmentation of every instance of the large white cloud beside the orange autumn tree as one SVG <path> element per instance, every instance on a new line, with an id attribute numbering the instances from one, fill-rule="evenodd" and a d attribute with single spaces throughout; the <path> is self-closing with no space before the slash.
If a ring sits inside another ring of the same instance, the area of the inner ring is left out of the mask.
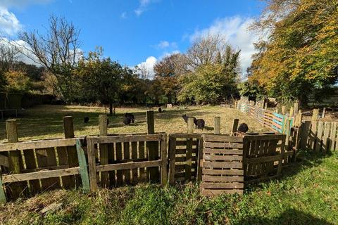
<path id="1" fill-rule="evenodd" d="M 190 41 L 208 34 L 220 34 L 234 48 L 242 50 L 240 63 L 242 72 L 244 72 L 251 65 L 252 54 L 256 53 L 253 43 L 259 39 L 253 31 L 248 29 L 251 23 L 253 23 L 253 18 L 243 18 L 241 16 L 218 19 L 210 27 L 204 30 L 196 30 L 194 34 L 190 35 Z"/>

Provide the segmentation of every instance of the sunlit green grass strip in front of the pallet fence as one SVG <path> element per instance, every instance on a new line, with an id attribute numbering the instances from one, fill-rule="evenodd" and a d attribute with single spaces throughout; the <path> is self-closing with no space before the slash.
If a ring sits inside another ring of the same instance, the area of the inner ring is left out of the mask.
<path id="1" fill-rule="evenodd" d="M 301 152 L 282 179 L 205 198 L 198 184 L 50 191 L 0 207 L 0 224 L 338 224 L 338 154 Z M 51 204 L 54 210 L 42 213 Z"/>

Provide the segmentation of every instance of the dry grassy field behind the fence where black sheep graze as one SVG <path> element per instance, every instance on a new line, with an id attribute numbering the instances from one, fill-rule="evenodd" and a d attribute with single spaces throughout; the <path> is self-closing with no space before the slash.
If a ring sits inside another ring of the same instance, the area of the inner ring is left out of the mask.
<path id="1" fill-rule="evenodd" d="M 133 133 L 146 132 L 146 110 L 149 108 L 117 108 L 116 115 L 109 117 L 108 133 Z M 188 107 L 182 109 L 166 110 L 165 113 L 155 114 L 156 132 L 186 132 L 187 124 L 182 119 L 182 114 L 202 118 L 206 121 L 204 132 L 213 132 L 214 117 L 221 117 L 221 132 L 228 134 L 235 118 L 239 122 L 249 124 L 249 131 L 268 131 L 261 124 L 239 113 L 233 108 L 220 106 Z M 134 113 L 135 123 L 124 126 L 125 113 Z M 104 114 L 105 109 L 99 107 L 73 106 L 73 105 L 39 105 L 25 111 L 18 117 L 18 135 L 20 140 L 45 139 L 51 137 L 63 137 L 63 121 L 65 115 L 73 116 L 75 135 L 98 134 L 98 119 Z M 89 123 L 84 124 L 83 118 L 89 117 Z M 6 139 L 6 126 L 4 120 L 0 120 L 0 142 Z M 201 130 L 196 130 L 201 132 Z"/>

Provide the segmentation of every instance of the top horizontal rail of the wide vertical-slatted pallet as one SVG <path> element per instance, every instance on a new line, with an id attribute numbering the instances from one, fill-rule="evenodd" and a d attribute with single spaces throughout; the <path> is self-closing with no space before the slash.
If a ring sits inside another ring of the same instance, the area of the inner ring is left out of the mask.
<path id="1" fill-rule="evenodd" d="M 133 141 L 160 141 L 161 134 L 146 134 L 137 136 L 101 136 L 94 137 L 95 143 L 118 143 Z"/>

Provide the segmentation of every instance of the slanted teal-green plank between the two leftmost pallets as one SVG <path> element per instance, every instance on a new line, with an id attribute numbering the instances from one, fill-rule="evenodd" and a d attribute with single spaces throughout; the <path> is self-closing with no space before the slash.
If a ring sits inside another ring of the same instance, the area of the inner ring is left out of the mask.
<path id="1" fill-rule="evenodd" d="M 82 189 L 84 193 L 87 193 L 90 191 L 90 185 L 89 185 L 89 175 L 87 172 L 87 162 L 86 157 L 84 156 L 84 150 L 82 148 L 82 143 L 80 139 L 76 139 L 76 152 L 77 152 L 77 158 L 79 159 L 79 171 L 82 181 Z"/>

